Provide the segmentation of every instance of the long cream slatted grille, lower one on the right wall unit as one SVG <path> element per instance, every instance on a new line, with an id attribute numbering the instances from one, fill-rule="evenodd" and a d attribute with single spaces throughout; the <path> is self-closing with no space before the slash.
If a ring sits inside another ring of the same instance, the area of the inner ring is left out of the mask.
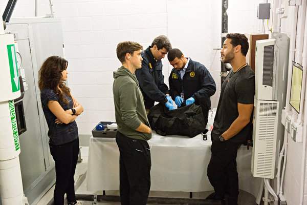
<path id="1" fill-rule="evenodd" d="M 277 103 L 260 103 L 259 104 L 259 130 L 258 140 L 264 141 L 266 144 L 265 152 L 257 154 L 256 174 L 265 178 L 272 175 L 272 167 L 274 167 L 274 137 L 277 110 Z"/>

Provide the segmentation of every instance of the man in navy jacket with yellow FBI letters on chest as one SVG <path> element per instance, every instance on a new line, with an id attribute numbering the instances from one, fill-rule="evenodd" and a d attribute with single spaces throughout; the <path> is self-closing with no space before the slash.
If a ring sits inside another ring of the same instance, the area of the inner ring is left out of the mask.
<path id="1" fill-rule="evenodd" d="M 207 68 L 175 48 L 168 52 L 167 58 L 172 69 L 169 81 L 169 94 L 178 107 L 195 103 L 202 107 L 205 123 L 208 122 L 208 111 L 211 108 L 210 96 L 216 86 Z M 205 128 L 204 128 L 205 131 Z"/>

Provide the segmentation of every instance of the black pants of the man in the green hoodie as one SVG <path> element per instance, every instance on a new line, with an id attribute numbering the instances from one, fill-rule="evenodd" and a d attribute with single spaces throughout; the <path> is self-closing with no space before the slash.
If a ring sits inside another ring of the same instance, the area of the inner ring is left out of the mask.
<path id="1" fill-rule="evenodd" d="M 145 205 L 150 189 L 150 150 L 147 141 L 116 134 L 119 148 L 119 191 L 122 205 Z"/>

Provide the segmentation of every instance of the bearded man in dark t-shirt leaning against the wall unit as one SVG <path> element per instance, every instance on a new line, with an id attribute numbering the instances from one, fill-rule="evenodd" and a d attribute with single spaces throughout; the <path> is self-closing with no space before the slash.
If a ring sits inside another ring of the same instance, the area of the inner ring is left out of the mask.
<path id="1" fill-rule="evenodd" d="M 230 63 L 233 70 L 222 85 L 214 118 L 212 154 L 207 173 L 215 192 L 207 199 L 225 199 L 226 204 L 237 204 L 237 149 L 252 129 L 255 76 L 246 63 L 248 47 L 244 34 L 229 33 L 221 51 L 221 60 Z"/>

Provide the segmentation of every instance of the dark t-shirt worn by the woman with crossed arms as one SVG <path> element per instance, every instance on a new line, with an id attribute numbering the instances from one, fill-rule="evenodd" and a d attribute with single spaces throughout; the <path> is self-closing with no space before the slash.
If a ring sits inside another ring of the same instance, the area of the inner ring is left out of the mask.
<path id="1" fill-rule="evenodd" d="M 69 110 L 73 108 L 73 99 L 64 95 L 68 100 L 68 104 L 64 104 L 59 101 L 58 96 L 51 89 L 43 89 L 40 92 L 40 100 L 42 105 L 43 113 L 48 124 L 48 136 L 50 137 L 49 142 L 52 145 L 62 145 L 67 142 L 73 141 L 78 138 L 78 127 L 76 121 L 69 124 L 56 124 L 55 119 L 57 118 L 48 108 L 48 102 L 50 100 L 58 101 L 63 110 Z"/>

